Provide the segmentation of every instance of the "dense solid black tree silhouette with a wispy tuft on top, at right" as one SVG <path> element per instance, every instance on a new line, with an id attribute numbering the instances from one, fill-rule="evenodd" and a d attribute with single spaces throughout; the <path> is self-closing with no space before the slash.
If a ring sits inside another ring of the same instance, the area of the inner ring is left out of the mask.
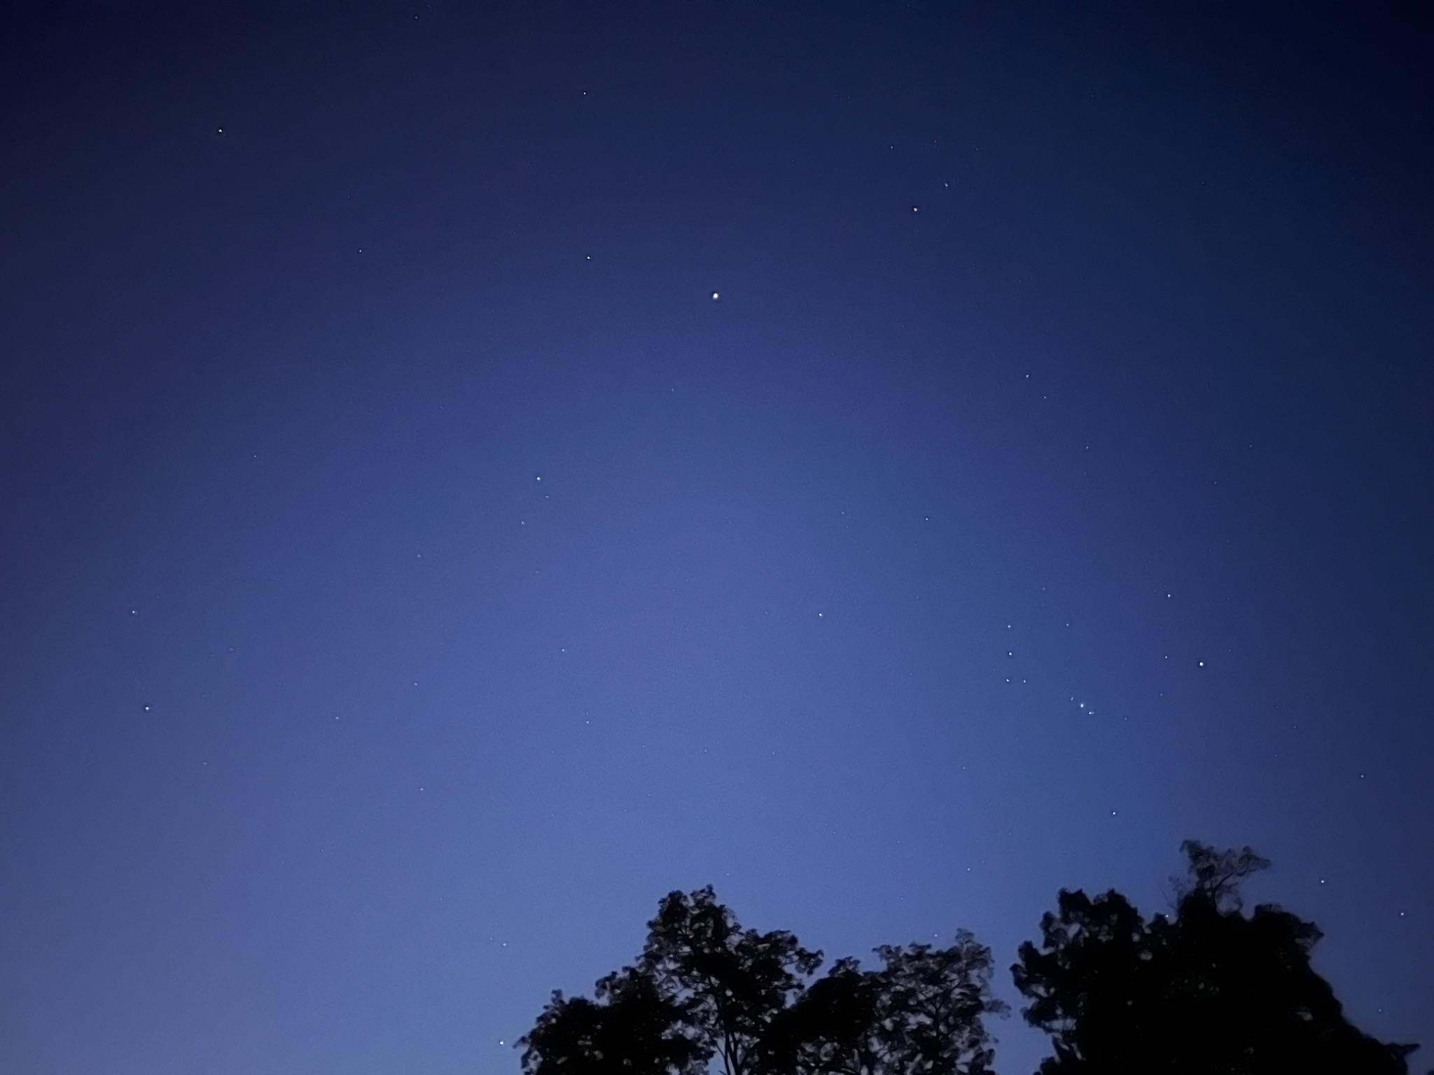
<path id="1" fill-rule="evenodd" d="M 1182 844 L 1174 919 L 1117 892 L 1063 890 L 1012 968 L 1027 1022 L 1054 1039 L 1043 1075 L 1404 1075 L 1412 1045 L 1352 1026 L 1309 965 L 1321 933 L 1276 906 L 1242 913 L 1249 847 Z"/>

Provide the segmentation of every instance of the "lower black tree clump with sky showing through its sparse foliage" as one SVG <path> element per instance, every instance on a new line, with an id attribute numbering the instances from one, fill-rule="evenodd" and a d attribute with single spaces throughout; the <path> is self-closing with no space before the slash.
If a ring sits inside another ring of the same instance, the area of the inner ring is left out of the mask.
<path id="1" fill-rule="evenodd" d="M 597 1000 L 552 1000 L 519 1041 L 526 1075 L 984 1075 L 991 950 L 883 946 L 878 970 L 822 963 L 787 932 L 743 929 L 711 887 L 674 892 L 634 966 Z"/>

